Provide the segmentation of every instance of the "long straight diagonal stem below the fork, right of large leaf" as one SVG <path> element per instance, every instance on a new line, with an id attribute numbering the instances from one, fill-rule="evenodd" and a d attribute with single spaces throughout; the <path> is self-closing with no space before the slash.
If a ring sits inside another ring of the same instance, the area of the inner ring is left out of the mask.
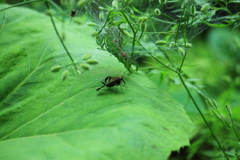
<path id="1" fill-rule="evenodd" d="M 224 149 L 222 148 L 220 142 L 218 141 L 217 137 L 215 136 L 215 134 L 214 134 L 212 128 L 210 127 L 210 125 L 208 124 L 206 118 L 204 117 L 204 115 L 203 115 L 201 109 L 199 108 L 199 106 L 197 105 L 196 101 L 194 100 L 194 98 L 193 98 L 191 92 L 188 90 L 188 87 L 187 87 L 187 85 L 185 84 L 185 82 L 184 82 L 184 80 L 183 80 L 183 78 L 182 78 L 182 76 L 181 76 L 181 73 L 178 73 L 178 76 L 179 76 L 179 78 L 180 78 L 180 80 L 181 80 L 181 82 L 182 82 L 184 88 L 186 89 L 186 91 L 187 91 L 187 93 L 188 93 L 190 99 L 192 100 L 192 102 L 193 102 L 194 105 L 196 106 L 196 108 L 197 108 L 199 114 L 201 115 L 202 119 L 204 120 L 205 124 L 207 125 L 208 129 L 211 131 L 212 136 L 213 136 L 213 138 L 215 139 L 215 141 L 217 142 L 219 148 L 222 150 L 222 152 L 223 152 L 224 156 L 226 157 L 226 159 L 229 160 L 228 157 L 227 157 L 227 154 L 225 153 L 225 151 L 224 151 Z"/>

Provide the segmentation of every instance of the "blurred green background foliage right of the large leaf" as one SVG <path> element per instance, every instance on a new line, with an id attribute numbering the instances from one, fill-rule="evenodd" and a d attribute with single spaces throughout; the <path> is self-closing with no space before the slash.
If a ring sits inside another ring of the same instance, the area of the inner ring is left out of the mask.
<path id="1" fill-rule="evenodd" d="M 204 96 L 213 97 L 214 101 L 217 102 L 215 104 L 211 102 L 211 105 L 206 106 L 205 99 L 202 99 L 202 96 L 196 98 L 198 104 L 203 106 L 204 115 L 206 115 L 214 132 L 217 133 L 217 137 L 230 159 L 239 159 L 239 140 L 232 129 L 233 126 L 237 132 L 240 130 L 238 116 L 240 93 L 239 74 L 237 72 L 239 52 L 238 43 L 236 43 L 239 37 L 240 34 L 237 30 L 229 32 L 227 29 L 211 29 L 206 39 L 202 40 L 199 37 L 193 42 L 194 47 L 189 50 L 186 59 L 189 66 L 186 68 L 187 73 L 192 77 L 202 78 L 202 80 L 193 79 L 191 83 L 194 82 L 196 87 L 202 86 L 198 88 L 204 90 Z M 170 75 L 166 77 L 171 78 Z M 167 79 L 165 78 L 162 82 L 162 87 L 167 84 Z M 174 82 L 175 85 L 166 85 L 170 88 L 167 89 L 168 93 L 173 95 L 180 103 L 186 104 L 186 110 L 189 115 L 192 115 L 191 119 L 198 128 L 187 152 L 189 159 L 196 159 L 197 157 L 199 159 L 224 159 L 219 147 L 216 146 L 215 140 L 210 135 L 210 131 L 205 128 L 205 124 L 199 119 L 194 106 L 185 97 L 183 89 L 176 86 L 179 85 L 178 81 Z M 195 97 L 198 97 L 197 94 L 195 94 Z M 225 108 L 228 104 L 232 108 L 233 125 Z M 212 112 L 211 108 L 217 108 L 218 111 L 214 110 Z M 219 117 L 220 114 L 221 117 Z"/>

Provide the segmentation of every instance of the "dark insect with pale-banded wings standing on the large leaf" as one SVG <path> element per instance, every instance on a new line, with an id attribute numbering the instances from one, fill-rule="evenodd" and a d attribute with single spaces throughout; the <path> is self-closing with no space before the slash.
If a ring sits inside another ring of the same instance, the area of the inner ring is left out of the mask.
<path id="1" fill-rule="evenodd" d="M 121 82 L 126 84 L 126 82 L 123 80 L 123 77 L 108 76 L 108 77 L 105 78 L 104 82 L 102 82 L 103 86 L 99 87 L 97 89 L 97 91 L 100 90 L 101 88 L 105 87 L 105 86 L 107 86 L 107 87 L 119 86 L 121 84 Z"/>

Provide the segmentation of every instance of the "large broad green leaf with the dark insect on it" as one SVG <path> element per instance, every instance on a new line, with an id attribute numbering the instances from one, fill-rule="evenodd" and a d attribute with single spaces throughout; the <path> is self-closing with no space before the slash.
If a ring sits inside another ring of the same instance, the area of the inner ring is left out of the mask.
<path id="1" fill-rule="evenodd" d="M 77 74 L 48 16 L 11 8 L 0 26 L 0 159 L 163 160 L 189 145 L 194 126 L 183 107 L 98 50 L 94 29 L 57 22 L 75 62 L 85 54 L 99 62 Z M 61 70 L 51 72 L 54 65 Z M 106 76 L 123 74 L 123 91 L 96 91 Z"/>

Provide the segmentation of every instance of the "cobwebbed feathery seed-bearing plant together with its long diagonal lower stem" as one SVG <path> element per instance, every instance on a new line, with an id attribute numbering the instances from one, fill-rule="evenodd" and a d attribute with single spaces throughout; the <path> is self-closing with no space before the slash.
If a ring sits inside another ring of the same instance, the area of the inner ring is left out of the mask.
<path id="1" fill-rule="evenodd" d="M 214 141 L 222 150 L 224 157 L 228 159 L 225 147 L 220 144 L 216 134 L 214 134 L 216 130 L 211 127 L 201 111 L 200 105 L 196 102 L 196 98 L 192 96 L 189 90 L 189 88 L 192 88 L 197 91 L 202 99 L 207 98 L 207 94 L 196 85 L 198 80 L 191 78 L 185 72 L 186 67 L 188 67 L 185 60 L 188 49 L 193 47 L 190 43 L 192 38 L 208 26 L 216 28 L 229 26 L 230 29 L 239 26 L 239 10 L 236 9 L 239 7 L 233 7 L 234 5 L 239 6 L 239 2 L 141 1 L 139 5 L 135 4 L 134 6 L 128 1 L 118 2 L 116 4 L 117 1 L 114 1 L 114 6 L 113 4 L 111 6 L 106 1 L 95 1 L 98 6 L 104 7 L 90 11 L 99 25 L 98 45 L 117 57 L 129 71 L 134 71 L 131 68 L 132 65 L 136 66 L 136 70 L 139 68 L 137 63 L 139 58 L 148 58 L 146 61 L 150 65 L 148 65 L 147 73 L 149 73 L 148 71 L 151 73 L 153 70 L 158 75 L 164 73 L 159 77 L 167 77 L 166 72 L 170 74 L 169 71 L 176 73 L 178 78 L 170 77 L 169 79 L 176 84 L 184 85 L 190 99 L 210 130 Z M 156 9 L 159 9 L 161 14 L 156 12 Z M 104 22 L 99 21 L 98 16 L 96 16 L 100 10 L 107 15 Z M 127 36 L 124 37 L 124 35 Z M 151 57 L 150 62 L 149 57 Z M 159 64 L 161 67 L 159 67 Z M 168 71 L 162 71 L 162 66 Z M 212 71 L 216 72 L 214 69 Z M 209 75 L 205 74 L 205 76 Z M 220 154 L 220 157 L 222 157 L 222 154 Z"/>

